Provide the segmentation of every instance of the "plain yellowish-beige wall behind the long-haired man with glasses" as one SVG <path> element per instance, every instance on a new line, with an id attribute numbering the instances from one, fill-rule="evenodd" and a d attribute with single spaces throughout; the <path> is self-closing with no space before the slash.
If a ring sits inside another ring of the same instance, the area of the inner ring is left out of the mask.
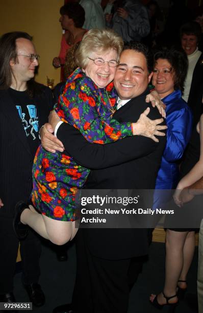
<path id="1" fill-rule="evenodd" d="M 46 84 L 46 75 L 60 81 L 60 69 L 54 69 L 62 35 L 59 9 L 64 0 L 0 0 L 0 36 L 11 31 L 24 31 L 33 36 L 40 55 L 36 80 Z"/>

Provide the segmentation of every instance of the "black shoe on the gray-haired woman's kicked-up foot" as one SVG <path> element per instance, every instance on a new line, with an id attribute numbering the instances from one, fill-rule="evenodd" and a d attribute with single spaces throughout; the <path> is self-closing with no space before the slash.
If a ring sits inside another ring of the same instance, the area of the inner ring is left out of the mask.
<path id="1" fill-rule="evenodd" d="M 28 225 L 24 225 L 20 221 L 20 215 L 24 209 L 29 209 L 28 205 L 19 201 L 15 206 L 15 215 L 13 218 L 13 229 L 18 239 L 24 239 L 28 235 Z"/>

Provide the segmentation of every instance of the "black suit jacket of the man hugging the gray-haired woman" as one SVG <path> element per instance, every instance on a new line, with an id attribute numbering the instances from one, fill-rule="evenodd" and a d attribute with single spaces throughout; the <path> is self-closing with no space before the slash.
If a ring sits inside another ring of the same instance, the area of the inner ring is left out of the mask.
<path id="1" fill-rule="evenodd" d="M 114 118 L 119 122 L 137 121 L 150 105 L 145 102 L 148 93 L 146 90 L 130 100 L 116 111 Z M 158 109 L 150 105 L 148 117 L 160 118 Z M 165 137 L 159 137 L 159 143 L 142 136 L 133 136 L 112 144 L 96 145 L 88 143 L 78 130 L 65 123 L 59 127 L 57 137 L 75 161 L 92 169 L 85 188 L 155 188 Z M 84 236 L 92 254 L 99 258 L 125 259 L 147 253 L 145 229 L 84 229 Z"/>

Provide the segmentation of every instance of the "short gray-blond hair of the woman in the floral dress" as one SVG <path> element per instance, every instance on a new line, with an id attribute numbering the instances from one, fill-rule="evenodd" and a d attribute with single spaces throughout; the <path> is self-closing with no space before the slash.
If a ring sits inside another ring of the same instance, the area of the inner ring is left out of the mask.
<path id="1" fill-rule="evenodd" d="M 122 38 L 111 29 L 91 29 L 83 36 L 75 52 L 77 65 L 85 69 L 92 52 L 102 53 L 109 49 L 115 49 L 119 56 L 123 49 Z"/>

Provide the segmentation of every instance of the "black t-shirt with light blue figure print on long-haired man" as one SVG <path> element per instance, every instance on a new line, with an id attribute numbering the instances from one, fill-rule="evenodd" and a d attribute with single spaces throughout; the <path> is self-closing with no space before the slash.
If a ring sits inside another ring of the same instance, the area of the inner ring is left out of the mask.
<path id="1" fill-rule="evenodd" d="M 32 154 L 35 155 L 40 144 L 38 135 L 38 109 L 35 99 L 30 98 L 27 91 L 20 92 L 12 88 L 9 88 L 9 94 L 15 103 L 17 115 L 21 119 L 24 136 L 26 136 L 29 142 Z"/>

